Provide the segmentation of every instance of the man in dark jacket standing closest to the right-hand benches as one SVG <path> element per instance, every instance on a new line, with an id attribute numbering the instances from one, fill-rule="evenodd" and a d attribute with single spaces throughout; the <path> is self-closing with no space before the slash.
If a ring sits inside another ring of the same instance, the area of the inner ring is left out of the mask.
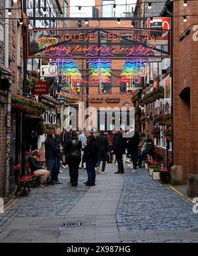
<path id="1" fill-rule="evenodd" d="M 137 154 L 138 146 L 140 143 L 139 133 L 135 131 L 135 134 L 132 138 L 129 138 L 127 142 L 127 153 L 131 155 L 131 161 L 133 162 L 133 173 L 137 171 Z"/>

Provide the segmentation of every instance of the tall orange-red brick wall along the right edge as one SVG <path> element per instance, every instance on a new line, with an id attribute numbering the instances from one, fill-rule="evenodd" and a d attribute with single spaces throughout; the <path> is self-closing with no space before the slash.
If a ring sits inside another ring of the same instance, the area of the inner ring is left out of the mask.
<path id="1" fill-rule="evenodd" d="M 182 165 L 183 181 L 188 173 L 198 173 L 198 42 L 192 39 L 192 29 L 183 40 L 180 36 L 192 24 L 197 24 L 197 13 L 198 5 L 191 1 L 185 10 L 182 2 L 174 2 L 174 164 Z M 195 16 L 187 16 L 187 22 L 178 17 L 189 14 Z M 190 107 L 180 98 L 185 87 L 190 87 Z"/>

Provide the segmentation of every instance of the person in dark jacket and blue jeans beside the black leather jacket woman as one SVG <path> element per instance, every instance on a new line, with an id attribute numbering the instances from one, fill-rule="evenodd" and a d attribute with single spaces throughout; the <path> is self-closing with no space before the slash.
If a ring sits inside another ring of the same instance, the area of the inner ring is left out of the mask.
<path id="1" fill-rule="evenodd" d="M 86 162 L 86 171 L 88 175 L 88 181 L 86 181 L 86 186 L 95 186 L 96 171 L 95 166 L 97 162 L 97 146 L 96 139 L 93 135 L 90 135 L 89 131 L 85 132 L 87 144 L 84 147 L 83 161 Z"/>

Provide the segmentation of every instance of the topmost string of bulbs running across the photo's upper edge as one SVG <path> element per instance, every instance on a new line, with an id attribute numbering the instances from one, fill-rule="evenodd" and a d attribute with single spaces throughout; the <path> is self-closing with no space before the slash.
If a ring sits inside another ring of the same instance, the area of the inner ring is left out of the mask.
<path id="1" fill-rule="evenodd" d="M 183 2 L 183 7 L 187 7 L 187 3 L 189 2 L 193 2 L 193 1 L 198 1 L 198 0 L 172 0 L 171 2 Z M 152 9 L 152 5 L 155 5 L 156 3 L 164 3 L 164 1 L 139 1 L 138 4 L 141 3 L 147 3 L 148 4 L 148 9 Z M 94 7 L 105 7 L 105 6 L 110 6 L 112 5 L 114 11 L 116 11 L 116 7 L 118 6 L 131 6 L 131 5 L 137 5 L 137 3 L 117 3 L 117 4 L 112 4 L 112 3 L 108 3 L 108 4 L 104 4 L 104 5 L 94 5 Z M 70 8 L 70 7 L 78 7 L 79 11 L 81 11 L 82 8 L 86 8 L 86 7 L 92 7 L 93 5 L 67 5 L 66 8 Z M 65 7 L 61 7 L 61 9 L 64 9 Z M 12 10 L 19 10 L 20 7 L 12 7 Z M 39 9 L 38 7 L 28 7 L 26 8 L 26 10 L 34 10 L 34 9 Z M 40 7 L 40 9 L 43 9 L 44 11 L 44 15 L 46 14 L 47 9 L 49 9 L 49 7 Z M 50 9 L 59 9 L 59 7 L 50 7 Z M 5 9 L 0 9 L 0 11 L 3 11 Z"/>

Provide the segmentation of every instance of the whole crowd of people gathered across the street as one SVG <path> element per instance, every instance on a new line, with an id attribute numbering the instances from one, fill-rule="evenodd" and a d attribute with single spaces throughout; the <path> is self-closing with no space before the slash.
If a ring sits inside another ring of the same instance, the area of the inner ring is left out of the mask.
<path id="1" fill-rule="evenodd" d="M 48 133 L 46 141 L 42 143 L 40 151 L 35 151 L 29 157 L 31 173 L 42 175 L 42 187 L 61 184 L 59 173 L 61 165 L 69 167 L 69 176 L 72 187 L 78 185 L 79 169 L 86 169 L 86 186 L 96 185 L 96 173 L 105 174 L 106 162 L 116 163 L 116 174 L 124 173 L 123 155 L 133 163 L 132 172 L 141 167 L 142 161 L 147 155 L 153 155 L 154 144 L 151 139 L 140 140 L 139 133 L 135 131 L 133 136 L 123 136 L 123 130 L 101 131 L 96 129 L 63 130 L 55 128 Z"/>

